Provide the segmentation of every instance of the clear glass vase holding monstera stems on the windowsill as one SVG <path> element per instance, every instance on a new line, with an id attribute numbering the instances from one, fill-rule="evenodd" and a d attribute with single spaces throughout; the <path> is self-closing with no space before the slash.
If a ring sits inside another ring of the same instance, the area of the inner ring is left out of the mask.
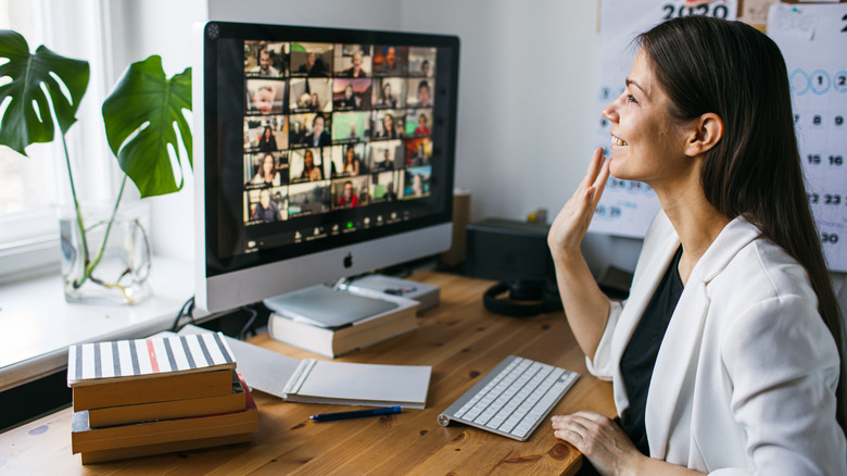
<path id="1" fill-rule="evenodd" d="M 83 235 L 74 208 L 61 209 L 67 302 L 135 304 L 152 295 L 149 206 L 140 201 L 122 203 L 110 225 L 113 210 L 113 203 L 83 205 Z"/>

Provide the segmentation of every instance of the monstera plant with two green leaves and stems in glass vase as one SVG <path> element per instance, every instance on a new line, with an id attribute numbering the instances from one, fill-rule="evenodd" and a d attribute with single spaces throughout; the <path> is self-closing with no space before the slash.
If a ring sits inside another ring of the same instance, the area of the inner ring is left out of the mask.
<path id="1" fill-rule="evenodd" d="M 192 166 L 191 129 L 184 113 L 191 110 L 191 68 L 167 78 L 157 55 L 131 64 L 102 108 L 109 147 L 125 175 L 111 216 L 98 239 L 100 242 L 89 243 L 87 233 L 90 229 L 86 228 L 84 220 L 86 211 L 77 198 L 65 142 L 68 129 L 77 121 L 76 113 L 88 79 L 88 62 L 64 58 L 45 46 L 38 47 L 33 54 L 23 36 L 0 30 L 0 104 L 8 103 L 0 116 L 0 143 L 26 155 L 30 143 L 52 141 L 58 126 L 71 180 L 75 231 L 79 238 L 75 253 L 79 253 L 83 263 L 69 280 L 76 288 L 88 280 L 97 280 L 93 272 L 103 256 L 127 178 L 135 183 L 142 198 L 181 189 L 181 165 L 177 179 L 168 147 L 177 155 L 182 152 Z M 179 147 L 177 131 L 184 149 Z M 184 161 L 176 162 L 181 164 Z M 89 249 L 93 245 L 96 248 Z"/>

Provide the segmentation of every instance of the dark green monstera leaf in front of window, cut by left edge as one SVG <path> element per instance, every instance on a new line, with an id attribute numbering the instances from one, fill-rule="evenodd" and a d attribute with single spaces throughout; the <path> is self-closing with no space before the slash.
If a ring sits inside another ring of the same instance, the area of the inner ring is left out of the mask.
<path id="1" fill-rule="evenodd" d="M 53 140 L 50 104 L 62 134 L 67 133 L 88 87 L 88 62 L 61 57 L 43 46 L 30 54 L 23 36 L 3 29 L 0 63 L 0 104 L 9 104 L 0 117 L 0 143 L 26 155 L 24 149 L 30 143 Z"/>

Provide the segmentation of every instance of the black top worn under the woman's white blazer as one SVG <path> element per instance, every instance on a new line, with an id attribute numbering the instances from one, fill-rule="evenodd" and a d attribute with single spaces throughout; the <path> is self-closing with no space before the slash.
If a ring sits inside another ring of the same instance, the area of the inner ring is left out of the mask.
<path id="1" fill-rule="evenodd" d="M 677 250 L 668 271 L 656 288 L 644 315 L 632 333 L 630 343 L 620 361 L 620 373 L 630 408 L 621 415 L 621 428 L 645 455 L 649 455 L 647 428 L 644 426 L 644 411 L 647 404 L 647 390 L 653 378 L 653 367 L 659 353 L 661 340 L 668 324 L 677 309 L 683 286 L 680 278 L 680 258 L 682 247 Z"/>

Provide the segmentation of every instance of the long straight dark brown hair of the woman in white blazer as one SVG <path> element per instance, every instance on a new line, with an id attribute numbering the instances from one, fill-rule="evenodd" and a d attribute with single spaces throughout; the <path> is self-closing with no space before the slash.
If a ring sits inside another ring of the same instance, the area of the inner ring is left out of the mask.
<path id="1" fill-rule="evenodd" d="M 703 162 L 706 198 L 726 217 L 756 225 L 806 268 L 818 311 L 843 356 L 844 327 L 809 209 L 779 47 L 747 24 L 706 16 L 665 22 L 636 41 L 671 100 L 674 120 L 707 112 L 723 120 L 723 137 Z M 843 363 L 840 369 L 836 417 L 844 429 Z"/>

